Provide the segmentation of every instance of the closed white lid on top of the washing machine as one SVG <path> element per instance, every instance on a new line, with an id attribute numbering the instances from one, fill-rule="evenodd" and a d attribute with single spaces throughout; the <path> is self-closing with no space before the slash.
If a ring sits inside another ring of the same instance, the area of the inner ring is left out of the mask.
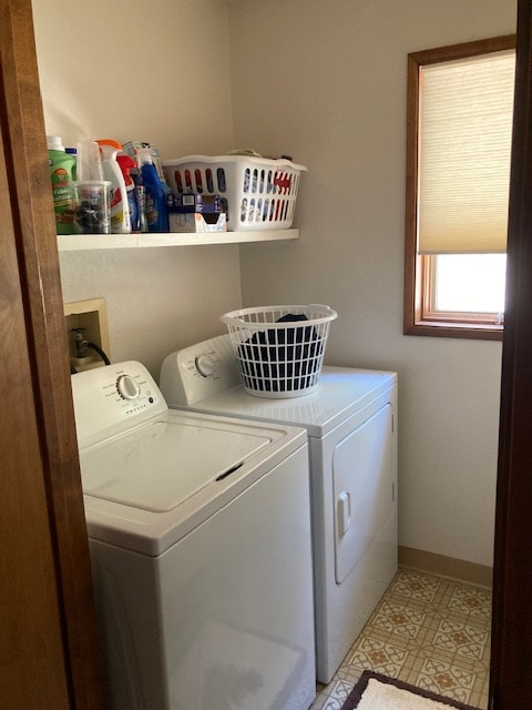
<path id="1" fill-rule="evenodd" d="M 82 453 L 85 496 L 167 513 L 268 446 L 254 433 L 214 420 L 158 419 Z"/>

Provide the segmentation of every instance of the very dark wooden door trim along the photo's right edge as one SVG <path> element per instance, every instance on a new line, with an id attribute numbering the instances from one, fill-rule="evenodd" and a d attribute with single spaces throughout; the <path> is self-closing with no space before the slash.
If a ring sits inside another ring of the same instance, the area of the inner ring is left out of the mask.
<path id="1" fill-rule="evenodd" d="M 532 3 L 518 2 L 490 710 L 532 708 Z"/>

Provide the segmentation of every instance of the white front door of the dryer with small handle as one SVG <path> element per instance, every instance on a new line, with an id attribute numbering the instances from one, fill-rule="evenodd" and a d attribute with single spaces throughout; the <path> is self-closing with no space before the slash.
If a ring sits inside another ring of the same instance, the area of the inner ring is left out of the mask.
<path id="1" fill-rule="evenodd" d="M 337 584 L 346 579 L 392 514 L 392 408 L 387 404 L 335 448 Z"/>

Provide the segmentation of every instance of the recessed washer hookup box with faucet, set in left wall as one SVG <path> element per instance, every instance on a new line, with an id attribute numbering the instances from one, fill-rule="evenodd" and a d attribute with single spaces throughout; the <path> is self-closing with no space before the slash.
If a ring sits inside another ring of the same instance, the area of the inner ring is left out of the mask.
<path id="1" fill-rule="evenodd" d="M 98 345 L 111 359 L 105 298 L 65 303 L 63 311 L 71 366 L 78 372 L 103 366 L 104 362 L 94 349 L 86 348 L 81 356 L 76 353 L 75 329 L 82 328 L 83 338 Z"/>

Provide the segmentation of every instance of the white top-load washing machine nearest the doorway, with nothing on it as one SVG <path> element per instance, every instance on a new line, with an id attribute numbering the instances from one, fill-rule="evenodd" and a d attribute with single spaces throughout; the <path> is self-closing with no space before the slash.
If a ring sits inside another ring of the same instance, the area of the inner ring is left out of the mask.
<path id="1" fill-rule="evenodd" d="M 170 412 L 137 362 L 72 376 L 113 710 L 306 710 L 304 429 Z"/>

